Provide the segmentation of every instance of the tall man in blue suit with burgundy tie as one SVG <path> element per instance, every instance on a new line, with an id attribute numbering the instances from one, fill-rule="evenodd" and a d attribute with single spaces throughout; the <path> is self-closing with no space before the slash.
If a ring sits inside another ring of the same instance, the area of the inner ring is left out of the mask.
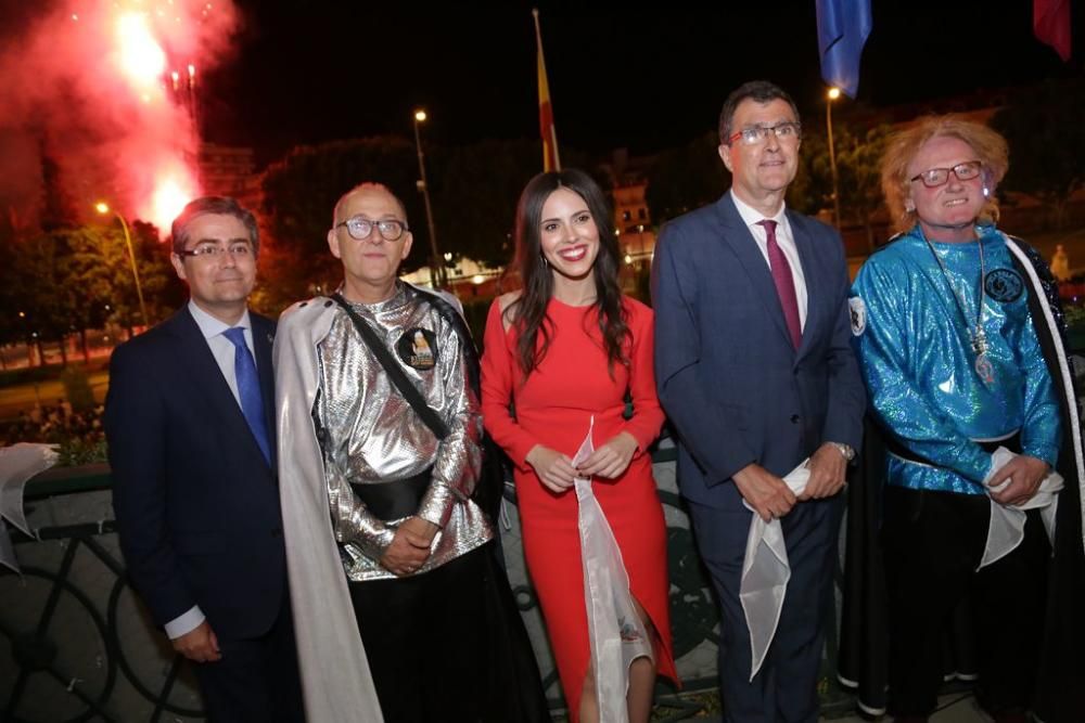
<path id="1" fill-rule="evenodd" d="M 840 235 L 784 207 L 801 137 L 780 88 L 754 81 L 732 92 L 719 118 L 731 189 L 666 224 L 652 269 L 656 384 L 723 608 L 719 673 L 732 722 L 818 718 L 838 493 L 861 435 Z M 782 477 L 804 461 L 809 480 L 796 496 Z M 751 680 L 739 586 L 753 514 L 780 520 L 791 578 Z"/>

